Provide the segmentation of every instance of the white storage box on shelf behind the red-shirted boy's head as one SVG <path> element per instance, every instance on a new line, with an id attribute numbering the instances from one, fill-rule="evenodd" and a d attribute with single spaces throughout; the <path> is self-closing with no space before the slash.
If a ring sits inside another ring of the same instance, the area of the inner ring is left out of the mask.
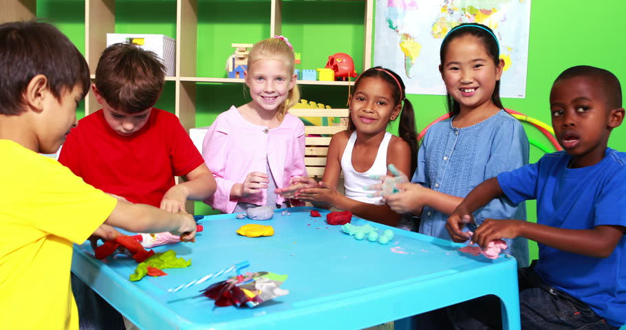
<path id="1" fill-rule="evenodd" d="M 107 47 L 114 43 L 134 43 L 154 52 L 166 67 L 166 76 L 176 75 L 176 41 L 164 34 L 107 33 Z"/>

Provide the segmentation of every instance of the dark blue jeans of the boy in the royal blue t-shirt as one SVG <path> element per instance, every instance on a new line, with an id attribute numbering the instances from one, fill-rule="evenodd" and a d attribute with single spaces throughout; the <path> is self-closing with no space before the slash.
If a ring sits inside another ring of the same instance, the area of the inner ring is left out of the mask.
<path id="1" fill-rule="evenodd" d="M 544 283 L 530 267 L 517 272 L 521 329 L 618 330 L 587 304 Z M 448 307 L 455 329 L 502 329 L 500 300 L 484 296 Z"/>

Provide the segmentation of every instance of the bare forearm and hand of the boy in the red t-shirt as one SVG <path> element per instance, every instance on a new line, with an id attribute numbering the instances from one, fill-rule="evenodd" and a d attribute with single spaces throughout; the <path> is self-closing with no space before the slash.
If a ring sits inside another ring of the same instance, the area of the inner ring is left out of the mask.
<path id="1" fill-rule="evenodd" d="M 185 175 L 187 181 L 169 188 L 161 200 L 162 210 L 179 212 L 185 210 L 187 199 L 202 201 L 216 190 L 215 178 L 206 164 L 200 164 Z"/>

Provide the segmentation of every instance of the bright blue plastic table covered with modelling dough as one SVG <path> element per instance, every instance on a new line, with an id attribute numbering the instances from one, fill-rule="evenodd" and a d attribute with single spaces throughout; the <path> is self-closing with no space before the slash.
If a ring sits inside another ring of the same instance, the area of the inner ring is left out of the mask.
<path id="1" fill-rule="evenodd" d="M 321 218 L 310 217 L 312 208 L 289 210 L 268 221 L 204 217 L 196 243 L 154 249 L 193 259 L 191 267 L 165 270 L 168 276 L 131 282 L 133 259 L 118 254 L 98 261 L 88 243 L 74 246 L 72 272 L 142 329 L 362 329 L 486 294 L 501 298 L 504 329 L 519 329 L 515 259 L 471 256 L 457 251 L 461 244 L 353 218 L 354 225 L 395 233 L 387 245 L 358 241 L 341 225 L 325 223 L 325 210 Z M 236 234 L 246 223 L 272 225 L 274 236 Z M 167 292 L 241 261 L 250 261 L 245 271 L 287 274 L 281 288 L 290 294 L 253 309 L 194 298 L 228 276 Z"/>

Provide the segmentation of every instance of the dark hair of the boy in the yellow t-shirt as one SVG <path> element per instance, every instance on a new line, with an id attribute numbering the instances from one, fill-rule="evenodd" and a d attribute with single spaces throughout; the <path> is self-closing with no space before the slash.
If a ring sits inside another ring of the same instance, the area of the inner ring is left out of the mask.
<path id="1" fill-rule="evenodd" d="M 82 85 L 89 92 L 89 67 L 76 46 L 54 25 L 12 22 L 0 25 L 0 114 L 25 111 L 24 92 L 38 74 L 47 78 L 47 88 L 61 101 L 64 91 Z"/>

